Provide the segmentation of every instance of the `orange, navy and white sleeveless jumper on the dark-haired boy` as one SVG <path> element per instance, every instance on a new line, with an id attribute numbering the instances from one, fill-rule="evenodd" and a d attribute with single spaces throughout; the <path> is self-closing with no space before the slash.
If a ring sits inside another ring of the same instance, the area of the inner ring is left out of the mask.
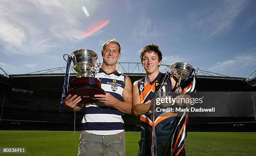
<path id="1" fill-rule="evenodd" d="M 150 82 L 147 77 L 138 80 L 138 90 L 141 103 L 148 102 L 154 98 L 154 93 L 160 88 L 161 80 L 164 79 L 165 74 L 159 72 L 156 79 Z M 159 97 L 167 96 L 167 92 L 172 92 L 172 82 L 168 79 L 159 92 Z M 179 140 L 179 117 L 174 116 L 172 112 L 155 112 L 155 133 L 156 133 L 156 151 L 157 156 L 171 156 L 172 153 L 172 137 L 174 136 L 174 143 Z M 183 125 L 184 123 L 180 123 Z M 178 128 L 177 128 L 178 126 Z M 177 130 L 176 130 L 177 128 Z M 151 111 L 141 115 L 141 140 L 139 141 L 140 150 L 138 156 L 151 156 L 151 142 L 152 142 L 152 121 Z M 176 133 L 174 134 L 174 131 Z M 176 155 L 174 153 L 174 155 Z M 178 155 L 185 155 L 184 147 L 179 150 Z"/>

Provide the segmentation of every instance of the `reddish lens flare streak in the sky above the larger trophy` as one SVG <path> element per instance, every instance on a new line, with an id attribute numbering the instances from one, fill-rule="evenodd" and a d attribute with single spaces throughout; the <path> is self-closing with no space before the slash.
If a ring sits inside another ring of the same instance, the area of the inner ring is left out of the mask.
<path id="1" fill-rule="evenodd" d="M 109 23 L 109 20 L 97 20 L 90 24 L 89 28 L 87 28 L 84 31 L 84 34 L 82 35 L 82 38 L 86 38 L 87 36 L 92 35 L 93 33 L 99 31 L 101 28 L 107 26 Z"/>

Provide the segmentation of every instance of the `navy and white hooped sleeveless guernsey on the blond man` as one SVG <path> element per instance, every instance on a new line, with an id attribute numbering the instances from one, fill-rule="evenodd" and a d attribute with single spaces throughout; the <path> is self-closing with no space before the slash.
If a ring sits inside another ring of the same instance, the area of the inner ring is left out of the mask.
<path id="1" fill-rule="evenodd" d="M 103 69 L 95 76 L 101 82 L 101 88 L 106 93 L 123 101 L 122 93 L 125 87 L 125 74 L 115 71 L 107 74 Z M 91 103 L 86 106 L 82 119 L 82 130 L 97 135 L 113 135 L 124 131 L 122 112 L 107 107 L 101 102 Z"/>

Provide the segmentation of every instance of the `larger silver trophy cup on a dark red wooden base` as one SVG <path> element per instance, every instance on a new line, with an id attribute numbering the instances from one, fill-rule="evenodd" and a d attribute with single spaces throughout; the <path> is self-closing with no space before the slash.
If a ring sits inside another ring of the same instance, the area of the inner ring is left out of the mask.
<path id="1" fill-rule="evenodd" d="M 72 80 L 69 83 L 69 88 L 65 96 L 77 95 L 81 97 L 83 104 L 95 102 L 92 98 L 94 95 L 103 94 L 105 91 L 101 88 L 100 81 L 95 78 L 95 74 L 99 72 L 102 63 L 97 61 L 97 54 L 88 49 L 79 49 L 73 51 L 71 54 L 64 54 L 65 56 L 71 56 L 73 61 L 73 68 L 77 72 L 77 79 Z M 68 61 L 67 61 L 68 62 Z"/>

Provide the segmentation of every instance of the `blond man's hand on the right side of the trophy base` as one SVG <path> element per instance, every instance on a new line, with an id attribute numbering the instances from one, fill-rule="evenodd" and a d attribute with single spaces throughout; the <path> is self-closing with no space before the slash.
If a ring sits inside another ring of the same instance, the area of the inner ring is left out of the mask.
<path id="1" fill-rule="evenodd" d="M 94 95 L 93 100 L 102 102 L 104 105 L 109 107 L 114 107 L 117 103 L 117 99 L 113 97 L 110 93 L 106 93 L 106 95 Z"/>

